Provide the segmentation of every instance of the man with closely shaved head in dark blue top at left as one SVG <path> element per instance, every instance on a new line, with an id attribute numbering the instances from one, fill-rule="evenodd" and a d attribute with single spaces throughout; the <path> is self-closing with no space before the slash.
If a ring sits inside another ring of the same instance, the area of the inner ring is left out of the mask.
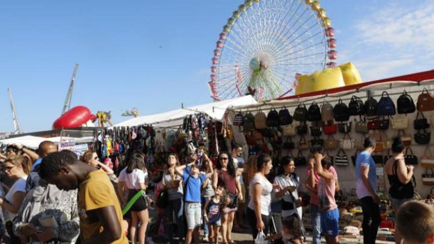
<path id="1" fill-rule="evenodd" d="M 37 148 L 37 155 L 39 158 L 32 165 L 32 172 L 27 176 L 26 191 L 29 192 L 34 187 L 39 185 L 39 166 L 42 159 L 48 154 L 57 152 L 57 145 L 49 140 L 44 140 L 39 144 Z"/>

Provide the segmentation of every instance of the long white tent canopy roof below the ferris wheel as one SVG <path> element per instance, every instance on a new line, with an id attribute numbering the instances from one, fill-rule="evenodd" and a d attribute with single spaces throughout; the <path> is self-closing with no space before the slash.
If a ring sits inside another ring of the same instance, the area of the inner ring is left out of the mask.
<path id="1" fill-rule="evenodd" d="M 185 116 L 194 113 L 206 113 L 210 117 L 216 120 L 223 120 L 224 113 L 228 107 L 235 106 L 247 106 L 257 104 L 256 100 L 252 96 L 244 96 L 240 98 L 233 98 L 215 103 L 209 103 L 204 105 L 197 105 L 192 107 L 180 108 L 164 113 L 146 115 L 137 118 L 132 118 L 127 121 L 114 125 L 119 126 L 138 126 L 144 124 L 152 124 L 158 127 L 172 127 L 182 124 L 182 120 Z"/>

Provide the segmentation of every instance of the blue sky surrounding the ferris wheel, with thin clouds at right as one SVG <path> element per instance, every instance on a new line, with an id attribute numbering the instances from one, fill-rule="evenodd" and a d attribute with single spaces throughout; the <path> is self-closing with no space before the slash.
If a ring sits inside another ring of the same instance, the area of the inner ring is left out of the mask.
<path id="1" fill-rule="evenodd" d="M 12 131 L 12 89 L 25 132 L 60 115 L 74 63 L 72 105 L 92 112 L 164 112 L 211 101 L 213 49 L 241 0 L 13 1 L 0 4 L 0 132 Z M 365 81 L 433 69 L 434 0 L 323 0 L 337 63 Z M 161 46 L 161 48 L 160 48 Z"/>

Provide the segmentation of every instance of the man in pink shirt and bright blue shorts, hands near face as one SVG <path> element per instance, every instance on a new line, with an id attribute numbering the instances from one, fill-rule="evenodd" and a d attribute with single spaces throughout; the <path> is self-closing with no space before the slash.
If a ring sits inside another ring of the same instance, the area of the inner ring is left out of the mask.
<path id="1" fill-rule="evenodd" d="M 319 152 L 314 153 L 314 160 L 309 160 L 309 166 L 318 174 L 316 182 L 315 174 L 310 174 L 308 185 L 318 190 L 318 207 L 321 213 L 321 227 L 325 234 L 327 244 L 339 243 L 339 210 L 337 209 L 334 194 L 336 191 L 337 174 L 330 170 L 331 161 Z"/>

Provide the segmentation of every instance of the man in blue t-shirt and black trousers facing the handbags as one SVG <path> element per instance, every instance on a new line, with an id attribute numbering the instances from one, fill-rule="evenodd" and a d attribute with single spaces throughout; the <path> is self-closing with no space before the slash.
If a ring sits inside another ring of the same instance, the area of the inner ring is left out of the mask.
<path id="1" fill-rule="evenodd" d="M 375 244 L 380 226 L 379 199 L 376 193 L 376 166 L 371 157 L 371 153 L 375 150 L 375 144 L 376 141 L 373 138 L 364 139 L 364 150 L 356 159 L 356 194 L 363 210 L 363 244 Z"/>

